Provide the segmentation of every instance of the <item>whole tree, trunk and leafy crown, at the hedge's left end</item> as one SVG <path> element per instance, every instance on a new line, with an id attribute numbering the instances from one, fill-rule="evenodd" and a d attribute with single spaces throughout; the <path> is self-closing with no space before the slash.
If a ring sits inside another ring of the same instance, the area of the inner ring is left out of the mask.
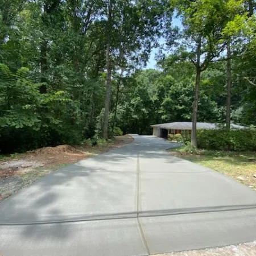
<path id="1" fill-rule="evenodd" d="M 179 47 L 175 48 L 177 59 L 190 60 L 196 71 L 191 135 L 191 144 L 195 147 L 201 72 L 205 71 L 209 63 L 222 51 L 218 42 L 221 39 L 221 28 L 224 26 L 220 12 L 223 6 L 224 1 L 213 0 L 176 2 L 176 9 L 183 23 L 183 30 L 177 38 Z M 166 34 L 167 38 L 170 38 L 170 31 L 166 30 Z M 172 46 L 172 43 L 167 44 Z"/>

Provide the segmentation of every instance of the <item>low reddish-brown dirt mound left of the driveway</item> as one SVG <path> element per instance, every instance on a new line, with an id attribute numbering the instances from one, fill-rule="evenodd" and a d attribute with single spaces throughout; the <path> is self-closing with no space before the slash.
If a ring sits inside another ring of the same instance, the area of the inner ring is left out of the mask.
<path id="1" fill-rule="evenodd" d="M 37 150 L 31 151 L 34 155 L 56 155 L 61 153 L 71 153 L 71 154 L 82 154 L 80 150 L 70 145 L 60 145 L 57 147 L 42 147 Z"/>

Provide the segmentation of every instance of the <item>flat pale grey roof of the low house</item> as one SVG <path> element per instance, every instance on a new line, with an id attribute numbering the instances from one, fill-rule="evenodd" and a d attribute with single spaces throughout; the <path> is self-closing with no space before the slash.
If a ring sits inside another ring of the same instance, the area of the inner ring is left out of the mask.
<path id="1" fill-rule="evenodd" d="M 173 122 L 173 123 L 160 123 L 158 125 L 151 125 L 151 127 L 159 127 L 162 129 L 172 129 L 172 130 L 192 130 L 192 122 Z M 217 123 L 196 123 L 197 129 L 208 129 L 215 130 L 219 129 L 219 125 Z M 231 129 L 246 129 L 245 126 L 242 125 L 230 125 Z"/>

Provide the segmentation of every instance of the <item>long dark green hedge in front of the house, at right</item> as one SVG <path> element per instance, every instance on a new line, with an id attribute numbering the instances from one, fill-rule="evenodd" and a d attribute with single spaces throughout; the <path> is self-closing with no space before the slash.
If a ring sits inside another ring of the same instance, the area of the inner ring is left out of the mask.
<path id="1" fill-rule="evenodd" d="M 255 130 L 199 130 L 197 146 L 207 150 L 254 151 Z"/>

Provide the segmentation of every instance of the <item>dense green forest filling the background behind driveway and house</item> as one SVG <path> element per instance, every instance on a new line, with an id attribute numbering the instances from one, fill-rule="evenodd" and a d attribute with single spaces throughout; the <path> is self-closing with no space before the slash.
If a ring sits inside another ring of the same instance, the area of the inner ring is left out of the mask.
<path id="1" fill-rule="evenodd" d="M 196 122 L 254 127 L 255 9 L 254 0 L 1 0 L 0 153 L 151 134 L 162 122 L 192 121 L 195 146 Z"/>

